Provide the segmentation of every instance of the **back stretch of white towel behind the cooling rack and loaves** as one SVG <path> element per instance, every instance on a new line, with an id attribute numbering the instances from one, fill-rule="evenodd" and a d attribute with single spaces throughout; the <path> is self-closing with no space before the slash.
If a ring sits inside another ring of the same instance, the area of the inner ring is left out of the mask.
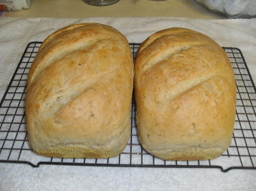
<path id="1" fill-rule="evenodd" d="M 149 35 L 169 27 L 185 27 L 202 32 L 221 46 L 239 48 L 256 81 L 256 19 L 202 20 L 189 18 L 9 18 L 0 19 L 0 97 L 28 42 L 43 41 L 61 27 L 98 22 L 122 32 L 129 42 L 142 42 Z"/>

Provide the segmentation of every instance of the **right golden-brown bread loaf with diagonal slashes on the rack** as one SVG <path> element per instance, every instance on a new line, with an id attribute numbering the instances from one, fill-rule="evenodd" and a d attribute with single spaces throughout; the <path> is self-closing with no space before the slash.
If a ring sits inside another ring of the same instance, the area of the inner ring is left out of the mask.
<path id="1" fill-rule="evenodd" d="M 171 160 L 214 159 L 233 133 L 236 85 L 224 50 L 184 28 L 152 34 L 135 63 L 140 143 Z"/>

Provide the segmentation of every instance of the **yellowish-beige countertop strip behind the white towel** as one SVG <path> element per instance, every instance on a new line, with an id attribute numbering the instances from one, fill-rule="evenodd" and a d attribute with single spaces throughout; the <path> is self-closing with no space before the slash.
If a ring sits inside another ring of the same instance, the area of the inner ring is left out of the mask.
<path id="1" fill-rule="evenodd" d="M 206 11 L 194 0 L 119 0 L 109 6 L 92 6 L 82 0 L 31 0 L 27 10 L 9 11 L 8 17 L 188 17 L 200 19 L 223 19 L 221 15 Z"/>

